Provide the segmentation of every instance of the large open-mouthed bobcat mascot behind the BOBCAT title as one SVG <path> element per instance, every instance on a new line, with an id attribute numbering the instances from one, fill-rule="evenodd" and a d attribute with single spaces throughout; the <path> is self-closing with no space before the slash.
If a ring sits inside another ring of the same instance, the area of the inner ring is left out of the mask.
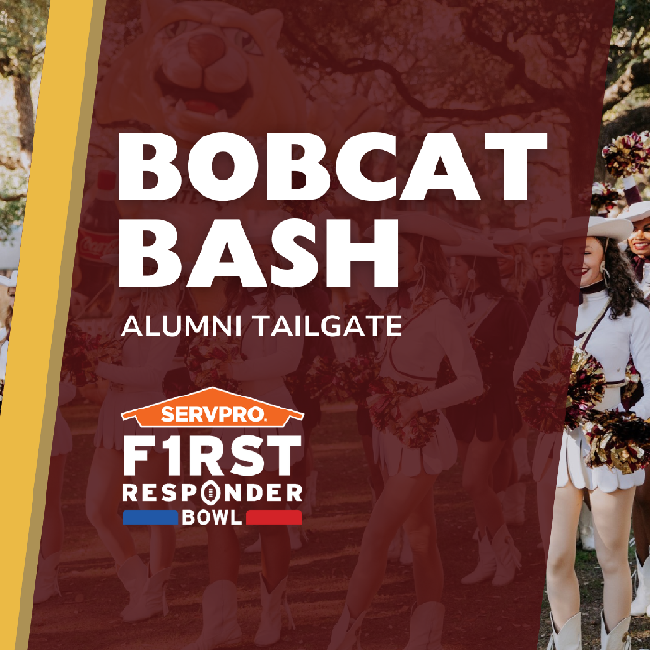
<path id="1" fill-rule="evenodd" d="M 162 204 L 143 204 L 139 216 L 174 224 L 184 267 L 196 260 L 215 218 L 245 220 L 246 210 L 276 208 L 264 198 L 266 157 L 260 151 L 258 182 L 239 201 L 220 205 L 196 192 L 185 166 L 199 138 L 227 131 L 250 138 L 259 150 L 267 132 L 311 132 L 323 138 L 333 159 L 346 139 L 383 123 L 382 111 L 361 97 L 338 111 L 327 100 L 308 111 L 298 79 L 277 48 L 282 23 L 277 9 L 251 15 L 224 2 L 142 0 L 143 33 L 116 59 L 99 89 L 100 125 L 166 133 L 178 143 L 181 190 Z M 214 312 L 223 299 L 214 291 L 193 293 L 203 313 Z"/>

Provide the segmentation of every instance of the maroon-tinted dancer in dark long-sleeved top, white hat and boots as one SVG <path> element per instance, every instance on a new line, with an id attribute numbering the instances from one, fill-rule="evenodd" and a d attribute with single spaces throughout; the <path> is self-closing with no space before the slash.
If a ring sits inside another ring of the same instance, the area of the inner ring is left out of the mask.
<path id="1" fill-rule="evenodd" d="M 452 256 L 450 276 L 460 292 L 469 335 L 485 353 L 479 356 L 483 395 L 478 401 L 447 409 L 459 441 L 463 488 L 474 502 L 477 524 L 474 538 L 479 562 L 462 583 L 492 578 L 494 586 L 503 586 L 514 579 L 521 554 L 514 545 L 503 543 L 512 538 L 497 493 L 507 485 L 495 485 L 493 472 L 506 442 L 520 426 L 512 371 L 528 324 L 518 301 L 501 284 L 497 260 L 503 255 L 489 241 L 466 240 L 460 246 L 446 247 L 445 252 Z"/>

